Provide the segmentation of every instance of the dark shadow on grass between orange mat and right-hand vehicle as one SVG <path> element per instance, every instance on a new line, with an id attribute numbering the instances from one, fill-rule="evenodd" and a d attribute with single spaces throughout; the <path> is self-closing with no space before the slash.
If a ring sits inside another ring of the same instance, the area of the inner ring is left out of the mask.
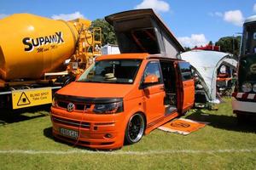
<path id="1" fill-rule="evenodd" d="M 202 110 L 195 110 L 186 118 L 199 121 L 199 122 L 209 122 L 208 126 L 221 128 L 230 131 L 244 132 L 244 133 L 256 133 L 256 120 L 248 119 L 247 122 L 238 123 L 236 116 L 226 116 L 226 115 L 213 115 L 205 113 Z"/>

